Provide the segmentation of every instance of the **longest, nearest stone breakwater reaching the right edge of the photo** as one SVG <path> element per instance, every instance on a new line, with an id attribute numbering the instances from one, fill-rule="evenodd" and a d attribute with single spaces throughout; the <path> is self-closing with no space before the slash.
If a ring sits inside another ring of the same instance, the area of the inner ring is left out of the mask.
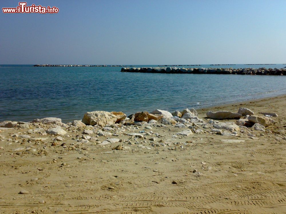
<path id="1" fill-rule="evenodd" d="M 121 68 L 121 72 L 169 73 L 169 74 L 248 74 L 248 75 L 286 75 L 284 68 Z"/>

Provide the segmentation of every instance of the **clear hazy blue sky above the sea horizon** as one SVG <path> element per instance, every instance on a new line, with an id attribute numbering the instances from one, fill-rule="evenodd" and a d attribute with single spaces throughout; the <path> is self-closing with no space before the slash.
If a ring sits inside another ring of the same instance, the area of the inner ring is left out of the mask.
<path id="1" fill-rule="evenodd" d="M 4 14 L 0 64 L 286 63 L 285 0 L 27 1 Z"/>

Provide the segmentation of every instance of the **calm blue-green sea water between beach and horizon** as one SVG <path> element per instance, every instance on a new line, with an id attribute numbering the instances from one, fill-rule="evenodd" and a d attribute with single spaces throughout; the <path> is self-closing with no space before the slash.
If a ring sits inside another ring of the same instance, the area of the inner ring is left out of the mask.
<path id="1" fill-rule="evenodd" d="M 285 76 L 144 74 L 120 72 L 121 67 L 0 66 L 0 121 L 58 117 L 71 122 L 87 111 L 123 111 L 129 115 L 159 108 L 172 112 L 286 94 Z"/>

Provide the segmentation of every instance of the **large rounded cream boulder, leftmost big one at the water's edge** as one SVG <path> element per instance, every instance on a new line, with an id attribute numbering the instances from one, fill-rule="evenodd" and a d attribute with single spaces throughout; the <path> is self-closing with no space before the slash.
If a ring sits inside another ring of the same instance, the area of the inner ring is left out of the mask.
<path id="1" fill-rule="evenodd" d="M 99 125 L 106 126 L 114 124 L 117 120 L 117 117 L 110 112 L 105 111 L 94 111 L 94 112 L 86 112 L 84 117 L 82 118 L 82 122 L 86 125 Z"/>

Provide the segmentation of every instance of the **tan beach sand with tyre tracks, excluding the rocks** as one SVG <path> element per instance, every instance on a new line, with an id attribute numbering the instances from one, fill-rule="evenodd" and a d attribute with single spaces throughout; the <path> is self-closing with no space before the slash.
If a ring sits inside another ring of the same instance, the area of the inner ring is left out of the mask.
<path id="1" fill-rule="evenodd" d="M 1 129 L 0 213 L 286 213 L 285 106 L 283 95 L 198 110 L 204 121 L 208 110 L 239 107 L 279 115 L 266 132 L 250 129 L 239 136 L 203 132 L 173 138 L 185 129 L 152 126 L 125 133 L 159 136 L 119 134 L 112 138 L 125 142 L 98 146 L 72 139 L 84 128 L 55 143 L 50 135 Z M 23 141 L 14 133 L 47 139 Z M 125 149 L 112 149 L 119 144 Z"/>

